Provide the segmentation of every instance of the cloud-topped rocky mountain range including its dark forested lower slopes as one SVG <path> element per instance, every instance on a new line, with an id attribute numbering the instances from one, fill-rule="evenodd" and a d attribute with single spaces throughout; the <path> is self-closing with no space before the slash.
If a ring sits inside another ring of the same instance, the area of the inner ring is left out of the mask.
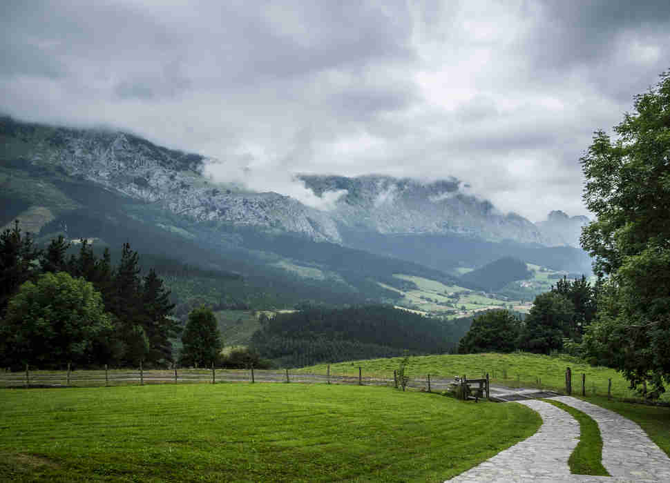
<path id="1" fill-rule="evenodd" d="M 394 274 L 462 285 L 457 268 L 505 256 L 574 272 L 589 264 L 582 250 L 548 246 L 537 226 L 499 213 L 457 179 L 298 177 L 335 200 L 319 210 L 215 182 L 203 173 L 221 161 L 126 132 L 2 118 L 0 146 L 0 225 L 20 217 L 42 238 L 131 240 L 140 253 L 242 273 L 291 299 L 392 302 L 397 293 L 380 283 L 412 283 Z"/>

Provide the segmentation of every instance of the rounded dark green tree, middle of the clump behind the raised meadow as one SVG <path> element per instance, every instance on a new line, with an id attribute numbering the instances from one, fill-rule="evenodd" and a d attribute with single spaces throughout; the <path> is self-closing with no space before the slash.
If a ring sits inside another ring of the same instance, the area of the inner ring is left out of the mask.
<path id="1" fill-rule="evenodd" d="M 558 351 L 571 332 L 574 312 L 572 302 L 564 295 L 553 292 L 537 295 L 524 321 L 519 348 L 541 354 Z"/>

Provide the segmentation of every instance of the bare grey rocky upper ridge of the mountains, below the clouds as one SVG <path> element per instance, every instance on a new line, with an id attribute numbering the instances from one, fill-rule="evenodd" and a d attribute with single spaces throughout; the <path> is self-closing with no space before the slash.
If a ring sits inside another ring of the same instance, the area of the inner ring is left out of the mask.
<path id="1" fill-rule="evenodd" d="M 3 157 L 51 166 L 197 221 L 256 226 L 337 244 L 346 244 L 343 227 L 385 235 L 566 244 L 556 230 L 546 236 L 520 215 L 499 213 L 490 201 L 466 193 L 468 185 L 455 178 L 428 183 L 384 175 L 297 175 L 318 197 L 341 193 L 332 210 L 319 210 L 280 193 L 252 193 L 233 183 L 214 182 L 203 171 L 215 159 L 162 148 L 122 131 L 44 126 L 5 117 L 0 119 L 0 138 Z"/>

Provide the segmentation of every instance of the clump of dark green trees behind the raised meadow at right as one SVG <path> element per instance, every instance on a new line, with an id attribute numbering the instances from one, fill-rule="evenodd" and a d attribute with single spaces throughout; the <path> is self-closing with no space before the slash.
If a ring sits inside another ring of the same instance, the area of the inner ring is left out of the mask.
<path id="1" fill-rule="evenodd" d="M 510 311 L 490 311 L 475 317 L 459 342 L 459 353 L 528 351 L 571 352 L 597 312 L 600 286 L 564 277 L 551 290 L 535 297 L 522 321 Z"/>

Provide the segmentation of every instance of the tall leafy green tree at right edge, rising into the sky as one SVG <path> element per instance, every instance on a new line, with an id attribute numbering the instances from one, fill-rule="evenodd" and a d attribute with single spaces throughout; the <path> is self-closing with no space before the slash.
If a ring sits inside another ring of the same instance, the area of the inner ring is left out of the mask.
<path id="1" fill-rule="evenodd" d="M 635 96 L 617 138 L 595 132 L 581 158 L 584 202 L 597 216 L 582 246 L 608 277 L 584 348 L 656 393 L 670 382 L 670 72 L 660 78 Z"/>

